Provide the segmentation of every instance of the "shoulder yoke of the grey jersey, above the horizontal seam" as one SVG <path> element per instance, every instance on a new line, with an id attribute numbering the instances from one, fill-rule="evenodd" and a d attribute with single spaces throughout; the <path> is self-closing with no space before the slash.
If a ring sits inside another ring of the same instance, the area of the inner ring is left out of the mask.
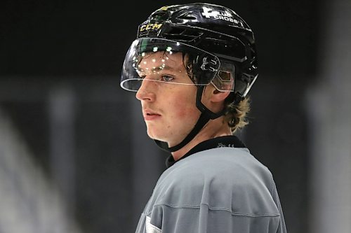
<path id="1" fill-rule="evenodd" d="M 272 174 L 246 148 L 214 148 L 190 155 L 167 169 L 154 189 L 154 204 L 277 214 Z"/>

